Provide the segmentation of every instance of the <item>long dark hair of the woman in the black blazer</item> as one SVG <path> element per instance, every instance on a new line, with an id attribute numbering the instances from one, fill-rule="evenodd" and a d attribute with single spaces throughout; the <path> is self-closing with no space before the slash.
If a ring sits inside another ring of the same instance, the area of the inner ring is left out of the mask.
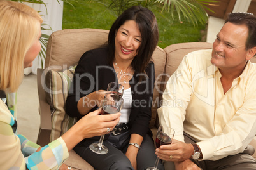
<path id="1" fill-rule="evenodd" d="M 108 34 L 108 62 L 111 65 L 115 58 L 115 34 L 119 27 L 128 20 L 134 20 L 141 32 L 141 44 L 137 49 L 137 55 L 132 60 L 134 72 L 145 73 L 146 66 L 150 62 L 153 51 L 157 47 L 159 32 L 157 19 L 152 11 L 142 6 L 132 6 L 125 10 L 113 23 Z"/>

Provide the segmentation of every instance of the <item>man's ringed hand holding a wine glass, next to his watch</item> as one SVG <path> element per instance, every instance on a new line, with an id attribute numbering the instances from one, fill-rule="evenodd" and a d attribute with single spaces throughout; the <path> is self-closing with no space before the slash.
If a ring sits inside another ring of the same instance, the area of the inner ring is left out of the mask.
<path id="1" fill-rule="evenodd" d="M 160 146 L 155 154 L 162 160 L 183 162 L 184 160 L 190 159 L 193 153 L 194 147 L 191 144 L 173 139 L 170 145 Z"/>

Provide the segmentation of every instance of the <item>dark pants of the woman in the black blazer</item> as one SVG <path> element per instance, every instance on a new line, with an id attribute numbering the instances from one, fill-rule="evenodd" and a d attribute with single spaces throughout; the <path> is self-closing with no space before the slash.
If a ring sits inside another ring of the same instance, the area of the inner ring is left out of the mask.
<path id="1" fill-rule="evenodd" d="M 108 140 L 103 142 L 103 145 L 108 147 L 108 154 L 104 155 L 95 154 L 92 152 L 89 148 L 92 141 L 86 140 L 83 144 L 80 143 L 79 145 L 76 145 L 73 150 L 75 150 L 80 157 L 85 159 L 95 169 L 133 169 L 130 160 L 125 156 L 129 140 L 129 131 L 117 136 L 110 134 Z M 94 141 L 94 143 L 97 142 L 98 141 Z M 153 144 L 152 138 L 146 134 L 143 142 L 141 143 L 141 149 L 137 155 L 137 169 L 145 170 L 147 167 L 153 167 L 156 159 L 157 156 L 155 155 L 155 145 Z M 164 169 L 161 161 L 159 161 L 158 169 Z"/>

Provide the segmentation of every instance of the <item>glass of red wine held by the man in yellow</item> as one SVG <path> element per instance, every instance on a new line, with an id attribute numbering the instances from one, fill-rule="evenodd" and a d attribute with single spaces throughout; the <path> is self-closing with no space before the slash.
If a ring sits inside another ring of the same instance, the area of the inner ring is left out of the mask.
<path id="1" fill-rule="evenodd" d="M 174 129 L 169 128 L 168 126 L 159 126 L 157 129 L 157 138 L 155 139 L 155 146 L 159 148 L 161 145 L 171 144 L 171 140 L 175 134 Z M 148 167 L 146 170 L 159 170 L 157 169 L 159 163 L 159 157 L 155 160 L 154 167 Z"/>

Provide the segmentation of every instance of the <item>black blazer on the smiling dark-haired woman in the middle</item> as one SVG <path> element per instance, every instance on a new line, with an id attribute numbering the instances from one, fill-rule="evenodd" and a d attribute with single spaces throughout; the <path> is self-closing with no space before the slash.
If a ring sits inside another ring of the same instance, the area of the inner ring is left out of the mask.
<path id="1" fill-rule="evenodd" d="M 106 90 L 109 82 L 118 82 L 113 64 L 108 65 L 107 54 L 106 48 L 99 48 L 85 52 L 80 58 L 66 100 L 66 113 L 69 116 L 78 117 L 78 119 L 82 117 L 77 108 L 78 100 L 82 96 L 99 89 Z M 145 79 L 139 81 L 138 74 L 134 73 L 132 79 L 129 81 L 132 92 L 129 126 L 131 127 L 131 134 L 139 134 L 143 138 L 146 133 L 152 135 L 149 122 L 152 114 L 151 106 L 155 82 L 153 62 L 150 62 L 146 68 L 146 74 L 144 75 Z M 96 109 L 97 106 L 92 108 L 90 112 Z M 107 139 L 108 135 L 105 138 Z"/>

